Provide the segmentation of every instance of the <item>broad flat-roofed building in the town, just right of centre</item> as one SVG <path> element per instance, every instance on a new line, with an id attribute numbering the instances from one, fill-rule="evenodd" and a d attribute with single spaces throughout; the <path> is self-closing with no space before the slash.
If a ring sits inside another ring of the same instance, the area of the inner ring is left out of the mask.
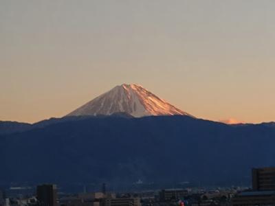
<path id="1" fill-rule="evenodd" d="M 159 192 L 159 201 L 160 202 L 168 202 L 168 201 L 177 201 L 184 196 L 188 195 L 188 190 L 183 189 L 170 189 L 170 190 L 162 190 Z"/>

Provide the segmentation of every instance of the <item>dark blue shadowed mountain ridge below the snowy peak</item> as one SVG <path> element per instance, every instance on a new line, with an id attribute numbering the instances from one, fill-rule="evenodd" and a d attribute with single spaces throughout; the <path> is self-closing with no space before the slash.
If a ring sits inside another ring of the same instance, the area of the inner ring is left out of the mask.
<path id="1" fill-rule="evenodd" d="M 0 137 L 0 183 L 250 183 L 275 165 L 274 124 L 188 116 L 69 117 Z"/>

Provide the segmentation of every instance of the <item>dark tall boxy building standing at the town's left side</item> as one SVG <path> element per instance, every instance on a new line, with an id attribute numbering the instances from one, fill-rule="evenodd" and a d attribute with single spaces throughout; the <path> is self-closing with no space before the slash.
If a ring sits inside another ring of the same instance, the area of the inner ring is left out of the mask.
<path id="1" fill-rule="evenodd" d="M 57 206 L 56 185 L 38 185 L 36 196 L 41 206 Z"/>

